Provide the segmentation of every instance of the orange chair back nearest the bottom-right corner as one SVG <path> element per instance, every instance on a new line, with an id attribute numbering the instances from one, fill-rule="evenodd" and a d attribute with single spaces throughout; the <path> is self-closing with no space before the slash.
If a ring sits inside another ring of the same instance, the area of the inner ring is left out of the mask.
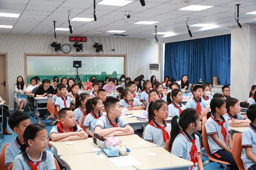
<path id="1" fill-rule="evenodd" d="M 239 170 L 245 170 L 243 166 L 243 161 L 241 159 L 241 153 L 242 153 L 242 133 L 235 133 L 233 135 L 233 149 L 232 155 L 235 159 Z"/>

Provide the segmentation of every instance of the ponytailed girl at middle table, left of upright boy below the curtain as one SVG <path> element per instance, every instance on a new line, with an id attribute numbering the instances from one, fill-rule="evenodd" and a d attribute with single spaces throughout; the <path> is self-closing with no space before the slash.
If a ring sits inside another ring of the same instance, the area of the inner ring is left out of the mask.
<path id="1" fill-rule="evenodd" d="M 171 100 L 172 97 L 172 100 Z M 167 103 L 170 103 L 168 105 L 169 110 L 169 117 L 174 117 L 176 115 L 180 115 L 180 113 L 186 109 L 186 106 L 181 104 L 182 101 L 182 92 L 179 89 L 172 90 L 172 93 L 167 94 Z"/>

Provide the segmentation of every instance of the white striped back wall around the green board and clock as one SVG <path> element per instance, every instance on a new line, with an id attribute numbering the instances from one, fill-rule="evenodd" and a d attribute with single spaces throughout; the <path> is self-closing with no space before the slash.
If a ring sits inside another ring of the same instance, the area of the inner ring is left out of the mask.
<path id="1" fill-rule="evenodd" d="M 76 52 L 74 42 L 69 42 L 69 36 L 53 35 L 25 35 L 0 34 L 0 53 L 8 53 L 8 85 L 9 108 L 14 104 L 14 84 L 17 77 L 24 77 L 24 53 L 63 54 L 55 52 L 50 46 L 52 41 L 69 44 L 70 54 L 127 54 L 126 76 L 134 79 L 143 74 L 147 79 L 148 63 L 158 61 L 158 46 L 155 41 L 146 41 L 144 38 L 118 38 L 118 37 L 87 37 L 83 44 L 83 52 Z M 103 52 L 96 53 L 92 45 L 97 42 L 103 45 Z M 113 42 L 113 45 L 112 45 Z M 115 49 L 111 52 L 111 49 Z M 8 100 L 7 100 L 8 101 Z"/>

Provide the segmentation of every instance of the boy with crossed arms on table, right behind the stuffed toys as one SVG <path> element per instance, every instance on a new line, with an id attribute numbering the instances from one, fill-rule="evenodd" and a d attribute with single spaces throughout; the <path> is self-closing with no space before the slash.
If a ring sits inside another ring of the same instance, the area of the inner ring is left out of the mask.
<path id="1" fill-rule="evenodd" d="M 94 133 L 98 133 L 104 137 L 134 134 L 131 126 L 121 118 L 122 111 L 118 99 L 112 97 L 107 98 L 105 109 L 107 114 L 97 119 Z"/>

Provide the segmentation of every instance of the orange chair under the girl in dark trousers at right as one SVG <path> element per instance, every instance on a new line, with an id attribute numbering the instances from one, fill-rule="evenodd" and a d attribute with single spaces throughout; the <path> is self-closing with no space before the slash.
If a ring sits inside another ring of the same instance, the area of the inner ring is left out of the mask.
<path id="1" fill-rule="evenodd" d="M 203 139 L 203 146 L 204 146 L 205 152 L 206 152 L 206 154 L 208 155 L 208 158 L 209 158 L 209 160 L 207 160 L 203 163 L 203 166 L 205 166 L 206 164 L 211 163 L 211 162 L 217 162 L 217 163 L 220 163 L 220 164 L 230 165 L 228 162 L 220 161 L 218 159 L 213 158 L 213 156 L 211 154 L 211 151 L 210 151 L 210 148 L 209 148 L 209 144 L 208 144 L 205 125 L 202 126 L 202 134 L 203 134 L 203 138 L 202 138 Z M 228 167 L 226 166 L 224 168 L 224 170 L 226 170 L 227 168 Z"/>

